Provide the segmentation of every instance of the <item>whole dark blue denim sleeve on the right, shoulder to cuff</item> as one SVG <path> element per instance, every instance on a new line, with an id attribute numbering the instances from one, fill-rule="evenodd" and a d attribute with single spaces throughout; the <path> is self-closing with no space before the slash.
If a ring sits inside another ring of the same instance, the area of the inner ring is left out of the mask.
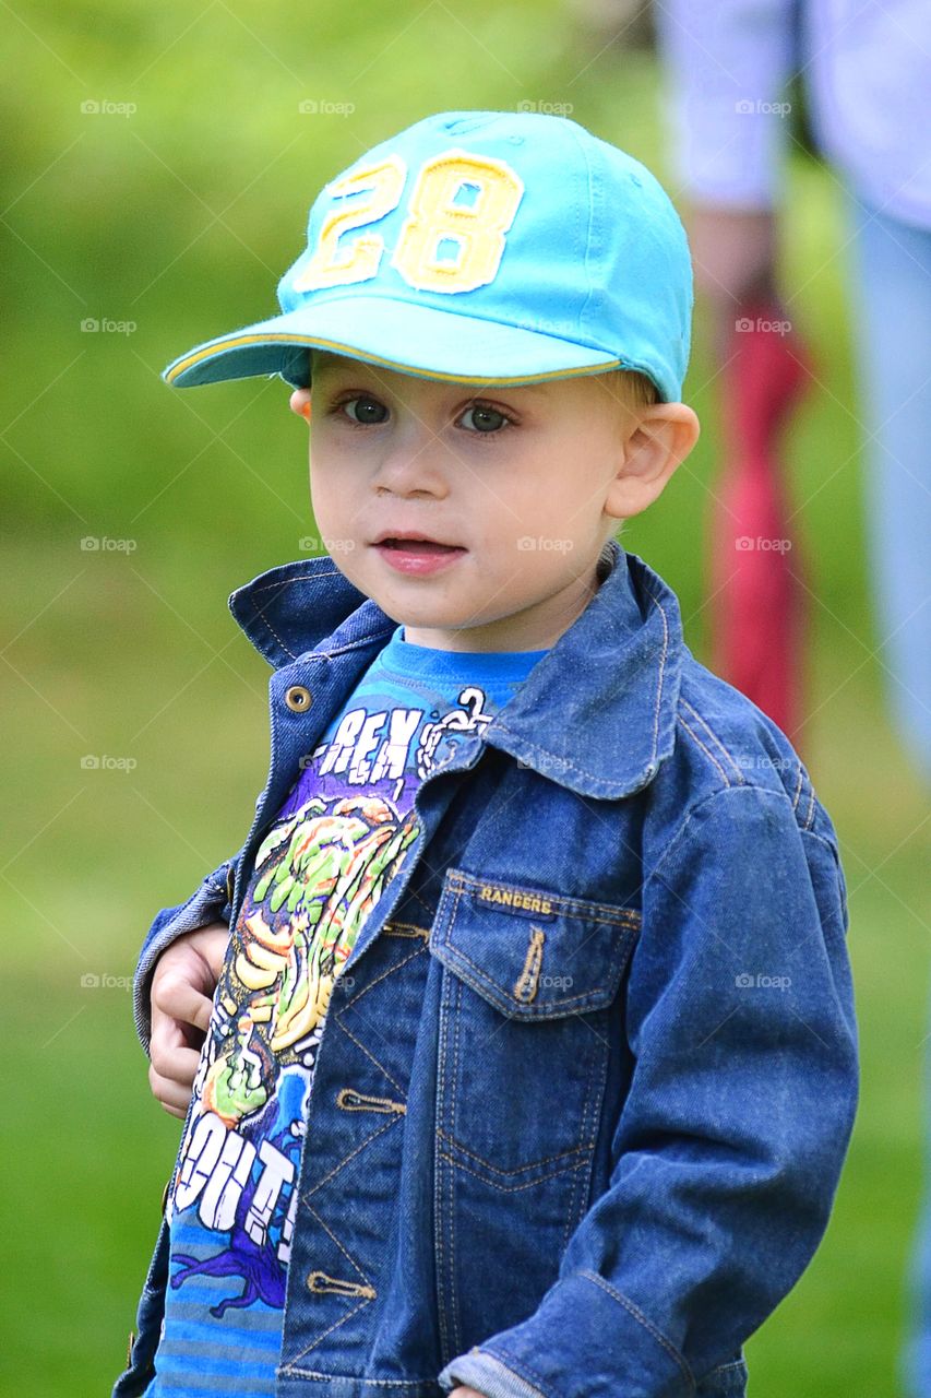
<path id="1" fill-rule="evenodd" d="M 653 860 L 609 1186 L 535 1313 L 453 1359 L 446 1391 L 686 1398 L 724 1380 L 811 1261 L 858 1058 L 835 835 L 814 793 L 798 805 L 738 784 Z"/>

